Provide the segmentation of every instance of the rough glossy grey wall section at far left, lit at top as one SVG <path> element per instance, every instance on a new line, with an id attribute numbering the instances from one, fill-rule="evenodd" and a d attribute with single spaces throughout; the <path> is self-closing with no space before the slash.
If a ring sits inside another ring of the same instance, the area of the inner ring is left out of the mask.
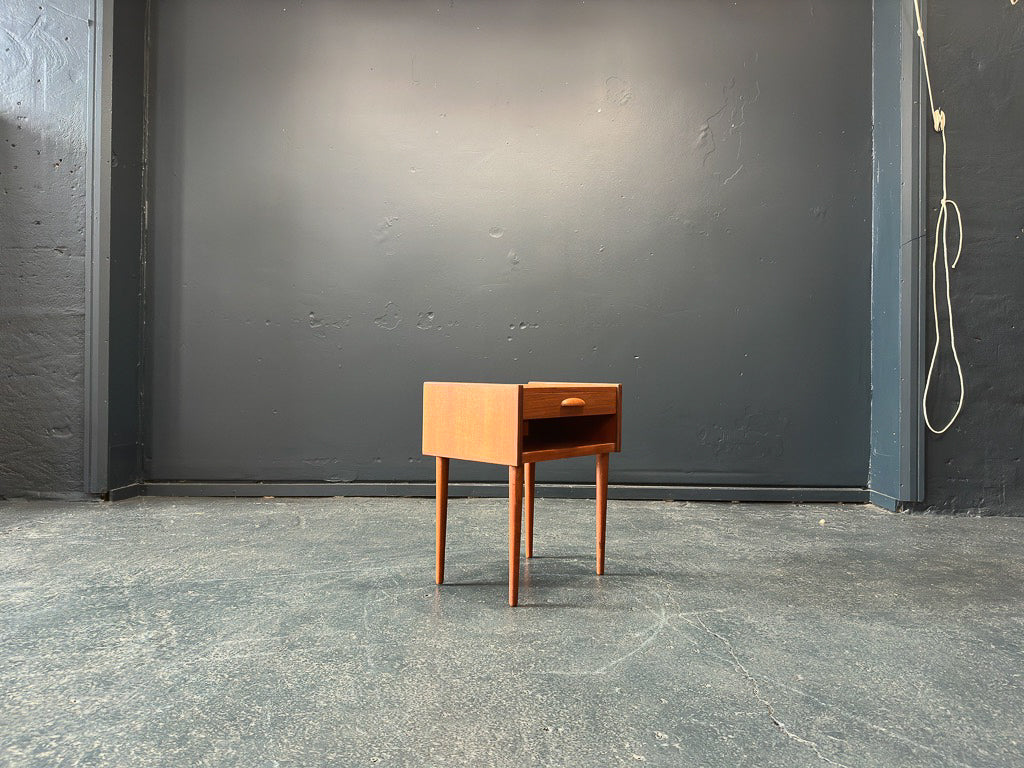
<path id="1" fill-rule="evenodd" d="M 0 497 L 83 487 L 91 7 L 0 6 Z"/>

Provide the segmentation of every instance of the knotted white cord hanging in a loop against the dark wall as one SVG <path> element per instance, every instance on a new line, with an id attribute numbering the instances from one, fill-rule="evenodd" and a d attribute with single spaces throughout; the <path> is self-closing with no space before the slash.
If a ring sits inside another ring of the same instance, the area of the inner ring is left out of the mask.
<path id="1" fill-rule="evenodd" d="M 956 335 L 953 332 L 953 301 L 949 293 L 949 272 L 956 268 L 961 254 L 964 253 L 964 218 L 961 216 L 959 206 L 949 199 L 948 196 L 948 173 L 946 165 L 946 114 L 942 110 L 935 109 L 935 96 L 932 93 L 932 76 L 928 72 L 928 49 L 925 45 L 925 28 L 921 19 L 920 0 L 913 0 L 913 9 L 918 14 L 918 38 L 921 40 L 921 60 L 925 69 L 925 82 L 928 84 L 928 101 L 932 108 L 932 122 L 936 132 L 942 136 L 942 200 L 939 203 L 939 215 L 935 221 L 935 250 L 932 253 L 932 317 L 935 319 L 935 346 L 932 348 L 932 360 L 928 366 L 928 376 L 925 379 L 925 391 L 921 397 L 921 407 L 925 415 L 925 424 L 935 434 L 942 434 L 956 421 L 961 411 L 964 409 L 964 367 L 961 365 L 959 354 L 956 352 Z M 949 209 L 956 213 L 956 229 L 959 232 L 959 243 L 956 246 L 956 256 L 952 264 L 949 263 Z M 928 392 L 932 386 L 932 375 L 935 373 L 935 364 L 939 357 L 939 348 L 942 345 L 942 332 L 939 327 L 939 294 L 938 294 L 938 264 L 939 245 L 942 245 L 942 267 L 946 282 L 946 311 L 949 316 L 949 348 L 953 353 L 953 362 L 956 364 L 956 375 L 959 377 L 959 401 L 956 403 L 956 411 L 946 422 L 942 429 L 936 429 L 932 425 L 932 420 L 928 415 Z"/>

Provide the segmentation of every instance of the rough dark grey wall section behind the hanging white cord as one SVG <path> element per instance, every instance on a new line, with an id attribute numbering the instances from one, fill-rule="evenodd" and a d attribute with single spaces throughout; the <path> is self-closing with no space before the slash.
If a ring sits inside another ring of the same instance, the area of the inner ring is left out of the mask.
<path id="1" fill-rule="evenodd" d="M 929 438 L 925 507 L 1019 515 L 1024 513 L 1024 5 L 929 0 L 928 6 L 936 99 L 948 116 L 949 195 L 964 210 L 967 230 L 952 285 L 968 391 L 953 428 Z M 934 225 L 941 196 L 935 134 L 929 136 L 929 152 Z M 946 384 L 955 382 L 948 367 L 941 376 Z M 939 388 L 936 421 L 951 413 L 955 395 L 952 386 Z"/>

